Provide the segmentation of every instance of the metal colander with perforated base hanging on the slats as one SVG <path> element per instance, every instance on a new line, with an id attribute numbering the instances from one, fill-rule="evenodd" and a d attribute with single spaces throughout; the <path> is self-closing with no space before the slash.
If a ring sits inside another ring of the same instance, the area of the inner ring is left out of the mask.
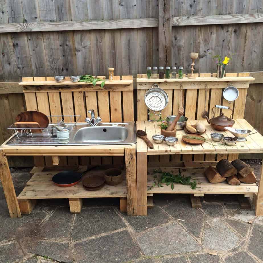
<path id="1" fill-rule="evenodd" d="M 160 116 L 161 111 L 168 104 L 168 95 L 157 84 L 153 84 L 152 88 L 145 93 L 144 102 L 149 110 L 152 110 L 155 115 Z M 159 112 L 159 114 L 156 112 Z"/>

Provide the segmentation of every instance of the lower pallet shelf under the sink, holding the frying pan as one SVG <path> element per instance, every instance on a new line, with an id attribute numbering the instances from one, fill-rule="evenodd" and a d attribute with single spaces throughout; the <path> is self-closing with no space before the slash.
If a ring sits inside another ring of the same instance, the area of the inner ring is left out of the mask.
<path id="1" fill-rule="evenodd" d="M 23 191 L 19 194 L 18 200 L 28 199 L 58 199 L 58 198 L 105 198 L 105 197 L 127 197 L 126 178 L 121 184 L 111 186 L 105 184 L 100 190 L 87 191 L 80 181 L 75 186 L 59 187 L 52 182 L 52 177 L 58 171 L 35 172 L 27 182 Z M 102 171 L 90 171 L 89 175 L 102 176 Z"/>

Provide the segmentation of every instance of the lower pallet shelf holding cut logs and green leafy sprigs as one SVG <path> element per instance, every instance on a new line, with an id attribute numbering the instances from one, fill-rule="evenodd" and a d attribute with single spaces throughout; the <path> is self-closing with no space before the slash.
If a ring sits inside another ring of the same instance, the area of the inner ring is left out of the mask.
<path id="1" fill-rule="evenodd" d="M 156 168 L 148 169 L 148 179 L 147 186 L 148 188 L 153 185 L 154 177 L 160 176 L 160 174 L 154 173 Z M 173 174 L 177 174 L 179 168 L 172 167 L 161 167 L 163 172 L 171 172 Z M 203 194 L 255 194 L 258 192 L 258 186 L 256 183 L 254 184 L 243 184 L 233 186 L 228 184 L 226 181 L 219 184 L 211 184 L 206 176 L 204 175 L 205 168 L 180 168 L 183 176 L 191 176 L 191 178 L 195 178 L 197 181 L 197 188 L 192 189 L 189 185 L 182 184 L 174 184 L 174 189 L 171 189 L 171 186 L 167 186 L 166 184 L 162 184 L 163 187 L 158 187 L 157 185 L 152 187 L 151 190 L 147 191 L 147 194 L 194 194 L 200 195 Z"/>

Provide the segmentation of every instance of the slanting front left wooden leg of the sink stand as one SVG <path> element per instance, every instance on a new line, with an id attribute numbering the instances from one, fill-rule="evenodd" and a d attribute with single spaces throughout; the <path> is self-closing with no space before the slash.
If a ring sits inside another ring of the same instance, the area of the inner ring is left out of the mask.
<path id="1" fill-rule="evenodd" d="M 19 204 L 17 201 L 17 195 L 9 170 L 7 157 L 3 150 L 0 149 L 0 179 L 2 182 L 3 190 L 5 193 L 5 199 L 9 209 L 10 217 L 21 217 Z"/>

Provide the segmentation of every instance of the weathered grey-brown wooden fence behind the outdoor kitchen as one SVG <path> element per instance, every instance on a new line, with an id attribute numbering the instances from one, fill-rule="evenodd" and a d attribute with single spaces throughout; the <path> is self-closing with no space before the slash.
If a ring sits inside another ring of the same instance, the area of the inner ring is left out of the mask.
<path id="1" fill-rule="evenodd" d="M 136 77 L 166 64 L 188 73 L 190 52 L 200 54 L 195 72 L 215 72 L 216 54 L 232 54 L 227 72 L 263 71 L 262 11 L 261 0 L 2 0 L 0 141 L 25 108 L 22 77 L 108 75 L 108 67 Z M 248 89 L 245 118 L 262 133 L 259 81 Z"/>

